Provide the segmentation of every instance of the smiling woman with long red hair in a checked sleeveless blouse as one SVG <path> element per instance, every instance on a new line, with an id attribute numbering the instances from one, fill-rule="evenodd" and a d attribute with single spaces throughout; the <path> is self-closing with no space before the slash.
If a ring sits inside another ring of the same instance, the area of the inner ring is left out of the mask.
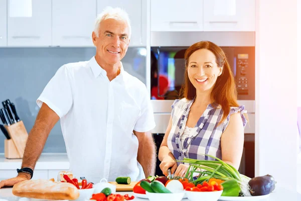
<path id="1" fill-rule="evenodd" d="M 183 158 L 215 160 L 239 168 L 244 127 L 244 106 L 237 104 L 235 81 L 223 50 L 209 41 L 193 44 L 185 52 L 182 99 L 172 105 L 171 119 L 159 150 L 165 175 L 185 176 Z"/>

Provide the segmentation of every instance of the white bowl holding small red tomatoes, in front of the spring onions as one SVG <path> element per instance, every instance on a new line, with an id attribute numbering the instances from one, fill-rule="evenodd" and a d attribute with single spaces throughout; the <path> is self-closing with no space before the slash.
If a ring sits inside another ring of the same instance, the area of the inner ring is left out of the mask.
<path id="1" fill-rule="evenodd" d="M 211 192 L 199 192 L 199 191 L 187 191 L 185 190 L 187 198 L 191 201 L 217 201 L 223 190 L 211 191 Z"/>

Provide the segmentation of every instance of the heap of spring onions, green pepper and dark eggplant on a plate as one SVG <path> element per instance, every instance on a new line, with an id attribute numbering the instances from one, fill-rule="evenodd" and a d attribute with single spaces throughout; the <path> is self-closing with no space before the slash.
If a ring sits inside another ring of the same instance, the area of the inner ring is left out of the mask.
<path id="1" fill-rule="evenodd" d="M 207 155 L 216 159 L 215 161 L 195 160 L 185 158 L 181 162 L 189 163 L 186 178 L 195 186 L 204 186 L 215 180 L 223 186 L 222 196 L 256 196 L 269 194 L 275 188 L 275 181 L 271 175 L 249 178 L 240 174 L 233 166 L 219 158 Z M 198 173 L 194 178 L 194 173 Z M 204 183 L 205 182 L 205 183 Z"/>

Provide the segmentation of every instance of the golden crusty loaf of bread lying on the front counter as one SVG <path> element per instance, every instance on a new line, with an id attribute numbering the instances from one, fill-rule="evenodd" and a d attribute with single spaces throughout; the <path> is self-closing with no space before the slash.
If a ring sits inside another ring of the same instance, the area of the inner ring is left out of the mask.
<path id="1" fill-rule="evenodd" d="M 53 182 L 47 179 L 25 180 L 14 185 L 13 194 L 37 199 L 77 199 L 77 187 L 67 182 Z"/>

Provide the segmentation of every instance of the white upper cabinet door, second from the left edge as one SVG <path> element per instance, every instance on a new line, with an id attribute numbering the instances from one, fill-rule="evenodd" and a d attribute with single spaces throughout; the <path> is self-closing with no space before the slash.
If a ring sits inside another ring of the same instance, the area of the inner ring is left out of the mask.
<path id="1" fill-rule="evenodd" d="M 32 17 L 15 17 L 10 6 L 8 46 L 51 46 L 51 0 L 32 0 Z"/>

